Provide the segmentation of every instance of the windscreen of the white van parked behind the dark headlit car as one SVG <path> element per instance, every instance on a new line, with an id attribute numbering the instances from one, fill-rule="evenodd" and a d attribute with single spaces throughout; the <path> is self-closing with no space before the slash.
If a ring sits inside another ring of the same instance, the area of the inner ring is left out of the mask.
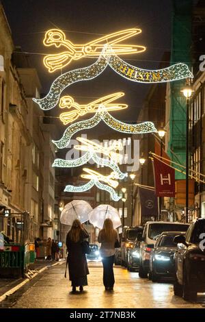
<path id="1" fill-rule="evenodd" d="M 189 225 L 178 223 L 152 223 L 149 227 L 149 238 L 154 239 L 156 235 L 162 232 L 187 232 Z"/>

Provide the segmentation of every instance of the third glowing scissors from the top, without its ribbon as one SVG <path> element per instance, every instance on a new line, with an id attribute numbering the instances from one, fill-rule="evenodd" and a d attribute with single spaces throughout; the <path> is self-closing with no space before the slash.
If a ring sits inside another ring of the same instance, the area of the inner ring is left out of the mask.
<path id="1" fill-rule="evenodd" d="M 115 163 L 118 163 L 122 160 L 122 155 L 119 153 L 115 153 L 114 151 L 122 151 L 123 146 L 122 143 L 116 142 L 112 143 L 110 147 L 103 147 L 102 145 L 98 145 L 97 143 L 88 140 L 87 138 L 77 138 L 79 142 L 83 143 L 83 145 L 74 145 L 74 149 L 81 151 L 95 151 L 96 153 L 102 153 L 105 156 L 109 156 L 110 159 L 114 160 Z"/>

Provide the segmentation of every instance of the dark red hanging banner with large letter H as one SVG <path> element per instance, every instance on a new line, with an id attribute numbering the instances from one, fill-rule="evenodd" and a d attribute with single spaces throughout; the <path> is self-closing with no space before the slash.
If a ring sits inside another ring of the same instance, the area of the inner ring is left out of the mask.
<path id="1" fill-rule="evenodd" d="M 175 197 L 175 170 L 154 158 L 154 179 L 157 197 Z"/>

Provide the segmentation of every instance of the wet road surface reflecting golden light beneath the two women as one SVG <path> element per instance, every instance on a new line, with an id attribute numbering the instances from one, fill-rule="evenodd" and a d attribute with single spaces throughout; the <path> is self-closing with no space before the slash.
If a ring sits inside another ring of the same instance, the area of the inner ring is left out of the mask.
<path id="1" fill-rule="evenodd" d="M 105 292 L 100 262 L 90 262 L 89 286 L 83 293 L 70 293 L 64 278 L 65 263 L 46 269 L 14 295 L 1 302 L 0 308 L 205 308 L 205 295 L 190 303 L 175 297 L 170 282 L 152 283 L 115 267 L 115 289 Z"/>

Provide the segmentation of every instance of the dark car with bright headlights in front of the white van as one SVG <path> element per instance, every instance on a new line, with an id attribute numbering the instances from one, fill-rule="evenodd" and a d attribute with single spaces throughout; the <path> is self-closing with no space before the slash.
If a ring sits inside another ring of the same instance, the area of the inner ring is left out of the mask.
<path id="1" fill-rule="evenodd" d="M 152 282 L 157 282 L 161 277 L 174 277 L 174 253 L 177 246 L 174 237 L 184 235 L 184 232 L 163 232 L 156 240 L 150 253 L 149 279 Z"/>

